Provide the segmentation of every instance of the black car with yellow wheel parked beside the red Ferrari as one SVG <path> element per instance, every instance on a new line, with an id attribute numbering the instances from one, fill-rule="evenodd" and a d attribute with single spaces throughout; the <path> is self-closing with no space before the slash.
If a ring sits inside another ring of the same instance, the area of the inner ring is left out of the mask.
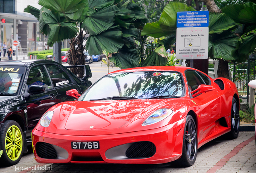
<path id="1" fill-rule="evenodd" d="M 73 66 L 74 67 L 74 66 Z M 51 60 L 14 60 L 0 62 L 0 163 L 19 162 L 31 131 L 41 116 L 52 106 L 73 101 L 66 91 L 82 94 L 91 82 L 89 65 L 80 80 L 68 68 Z"/>

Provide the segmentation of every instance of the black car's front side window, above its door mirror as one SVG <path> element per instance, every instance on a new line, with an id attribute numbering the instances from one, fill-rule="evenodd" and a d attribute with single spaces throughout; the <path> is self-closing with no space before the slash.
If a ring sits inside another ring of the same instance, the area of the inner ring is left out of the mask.
<path id="1" fill-rule="evenodd" d="M 29 71 L 29 77 L 27 79 L 28 87 L 30 87 L 31 85 L 39 84 L 43 85 L 45 87 L 45 90 L 52 88 L 50 78 L 44 66 L 35 66 L 32 67 Z"/>

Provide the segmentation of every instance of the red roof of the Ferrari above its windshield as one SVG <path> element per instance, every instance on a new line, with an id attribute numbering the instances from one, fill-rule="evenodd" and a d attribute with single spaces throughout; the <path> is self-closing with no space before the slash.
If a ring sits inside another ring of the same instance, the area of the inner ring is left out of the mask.
<path id="1" fill-rule="evenodd" d="M 185 67 L 185 66 L 145 66 L 136 68 L 126 68 L 122 70 L 116 70 L 110 73 L 116 72 L 140 72 L 140 71 L 178 71 L 185 72 L 185 70 L 196 70 L 195 68 Z M 197 70 L 199 71 L 199 70 Z"/>

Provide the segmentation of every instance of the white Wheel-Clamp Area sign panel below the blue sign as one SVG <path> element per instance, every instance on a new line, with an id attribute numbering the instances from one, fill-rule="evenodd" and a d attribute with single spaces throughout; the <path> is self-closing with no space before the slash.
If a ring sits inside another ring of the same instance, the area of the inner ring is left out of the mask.
<path id="1" fill-rule="evenodd" d="M 208 27 L 177 28 L 176 59 L 207 59 L 208 41 Z"/>

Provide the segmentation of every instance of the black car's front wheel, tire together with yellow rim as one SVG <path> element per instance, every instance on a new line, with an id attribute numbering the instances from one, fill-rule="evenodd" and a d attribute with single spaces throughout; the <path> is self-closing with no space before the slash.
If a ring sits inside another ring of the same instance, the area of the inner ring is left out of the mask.
<path id="1" fill-rule="evenodd" d="M 9 138 L 7 136 L 10 136 L 10 132 L 17 133 L 17 136 L 14 137 L 14 140 L 12 142 L 8 143 L 7 140 L 9 140 Z M 7 133 L 8 135 L 6 135 Z M 1 164 L 6 166 L 11 166 L 19 163 L 23 155 L 23 149 L 24 149 L 25 141 L 23 139 L 24 139 L 23 132 L 21 130 L 20 125 L 16 121 L 8 120 L 4 123 L 1 131 L 1 136 L 0 136 L 0 145 L 1 145 L 1 149 L 3 150 L 2 157 L 0 158 Z M 8 145 L 8 148 L 7 148 L 7 145 Z M 10 151 L 10 154 L 8 156 L 9 151 Z"/>

